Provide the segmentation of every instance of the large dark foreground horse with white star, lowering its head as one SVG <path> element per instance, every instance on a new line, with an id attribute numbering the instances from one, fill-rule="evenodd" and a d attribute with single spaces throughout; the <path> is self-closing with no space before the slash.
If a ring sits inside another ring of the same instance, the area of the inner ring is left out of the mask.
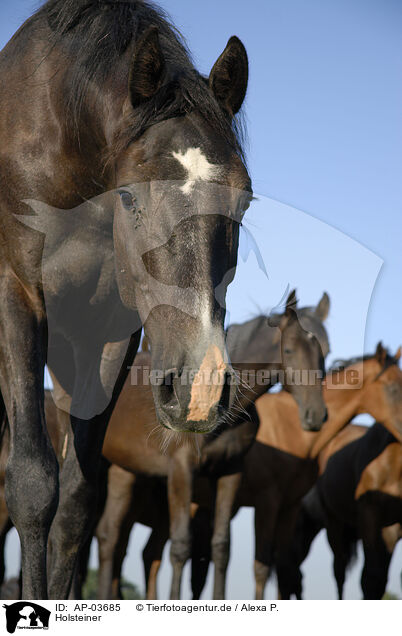
<path id="1" fill-rule="evenodd" d="M 147 2 L 48 0 L 0 54 L 0 390 L 24 597 L 47 597 L 51 524 L 49 590 L 67 596 L 141 324 L 163 424 L 218 424 L 222 385 L 180 378 L 231 372 L 222 300 L 251 197 L 233 119 L 247 79 L 235 37 L 201 77 Z M 72 398 L 59 502 L 46 361 Z"/>

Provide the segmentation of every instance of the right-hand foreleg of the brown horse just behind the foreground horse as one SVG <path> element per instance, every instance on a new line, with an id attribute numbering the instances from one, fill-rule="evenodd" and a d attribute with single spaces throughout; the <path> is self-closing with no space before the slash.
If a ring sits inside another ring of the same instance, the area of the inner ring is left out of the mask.
<path id="1" fill-rule="evenodd" d="M 239 491 L 241 473 L 220 477 L 217 483 L 215 522 L 212 535 L 212 561 L 214 573 L 214 599 L 225 598 L 226 571 L 230 555 L 230 520 Z"/>

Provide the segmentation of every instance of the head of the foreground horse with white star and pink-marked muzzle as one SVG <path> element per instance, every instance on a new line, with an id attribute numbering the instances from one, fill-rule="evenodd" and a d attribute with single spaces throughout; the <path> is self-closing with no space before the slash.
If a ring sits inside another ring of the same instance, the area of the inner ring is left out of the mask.
<path id="1" fill-rule="evenodd" d="M 128 108 L 138 117 L 144 103 L 147 109 L 149 103 L 172 108 L 175 101 L 184 107 L 187 91 L 196 87 L 200 103 L 213 105 L 223 123 L 239 108 L 246 81 L 246 53 L 237 39 L 206 84 L 169 67 L 151 28 L 134 51 Z M 216 424 L 227 366 L 224 310 L 215 290 L 236 265 L 247 172 L 234 139 L 230 144 L 223 132 L 216 134 L 194 103 L 191 112 L 178 112 L 132 141 L 118 156 L 116 181 L 119 289 L 123 302 L 139 310 L 153 369 L 160 372 L 153 384 L 158 415 L 169 428 L 208 431 Z"/>

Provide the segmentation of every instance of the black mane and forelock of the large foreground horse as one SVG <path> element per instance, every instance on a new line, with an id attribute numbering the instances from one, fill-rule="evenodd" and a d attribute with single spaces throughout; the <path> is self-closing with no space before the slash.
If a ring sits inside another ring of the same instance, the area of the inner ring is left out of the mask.
<path id="1" fill-rule="evenodd" d="M 165 12 L 145 0 L 48 0 L 34 20 L 46 20 L 52 46 L 64 47 L 71 66 L 69 114 L 78 128 L 91 87 L 102 87 L 122 56 L 151 25 L 158 28 L 169 67 L 169 81 L 147 102 L 133 109 L 111 154 L 117 154 L 153 124 L 197 111 L 242 158 L 242 126 L 230 120 L 194 68 L 183 37 Z"/>

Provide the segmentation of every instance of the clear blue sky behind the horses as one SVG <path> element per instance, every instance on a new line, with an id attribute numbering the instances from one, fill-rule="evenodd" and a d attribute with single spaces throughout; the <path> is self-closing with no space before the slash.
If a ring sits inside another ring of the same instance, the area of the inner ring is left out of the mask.
<path id="1" fill-rule="evenodd" d="M 287 284 L 297 287 L 302 304 L 316 303 L 326 289 L 332 301 L 331 358 L 372 351 L 380 339 L 395 351 L 402 341 L 400 2 L 161 4 L 202 72 L 209 72 L 231 35 L 242 39 L 249 55 L 247 154 L 259 200 L 246 228 L 269 278 L 253 255 L 241 261 L 228 295 L 230 319 L 275 306 Z M 31 0 L 2 0 L 1 46 L 35 6 Z M 232 597 L 251 593 L 251 523 L 251 513 L 244 511 L 234 524 Z M 139 535 L 133 554 L 142 543 Z M 308 597 L 328 598 L 334 588 L 323 540 L 315 551 L 306 572 Z M 395 591 L 398 554 L 390 583 Z M 127 573 L 139 580 L 137 567 L 130 554 Z M 360 596 L 357 580 L 356 575 L 348 586 L 350 598 Z"/>

